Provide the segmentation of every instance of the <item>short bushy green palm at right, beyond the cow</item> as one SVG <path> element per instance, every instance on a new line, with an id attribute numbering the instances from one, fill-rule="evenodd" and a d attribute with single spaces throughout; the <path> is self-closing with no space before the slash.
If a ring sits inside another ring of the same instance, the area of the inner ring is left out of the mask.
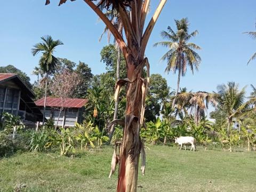
<path id="1" fill-rule="evenodd" d="M 222 84 L 217 86 L 217 101 L 220 110 L 225 111 L 227 114 L 227 135 L 233 118 L 245 113 L 248 105 L 244 103 L 245 100 L 245 87 L 241 91 L 238 90 L 238 84 L 235 82 L 228 82 L 227 85 Z"/>

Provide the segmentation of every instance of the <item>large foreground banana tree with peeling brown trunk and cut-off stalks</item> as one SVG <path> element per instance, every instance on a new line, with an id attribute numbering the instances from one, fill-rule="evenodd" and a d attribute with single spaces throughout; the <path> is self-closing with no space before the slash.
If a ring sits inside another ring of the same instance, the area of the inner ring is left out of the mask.
<path id="1" fill-rule="evenodd" d="M 59 5 L 67 0 L 60 0 Z M 74 0 L 71 0 L 74 1 Z M 95 5 L 92 0 L 84 0 L 91 9 L 105 22 L 116 39 L 126 61 L 127 78 L 116 83 L 115 100 L 119 89 L 126 84 L 126 115 L 124 139 L 119 154 L 119 172 L 117 191 L 137 191 L 138 167 L 140 151 L 143 150 L 140 139 L 140 128 L 145 112 L 145 98 L 149 86 L 149 63 L 145 50 L 155 23 L 167 0 L 159 1 L 159 5 L 145 29 L 146 15 L 150 0 L 100 0 Z M 46 5 L 50 0 L 46 0 Z M 123 23 L 125 38 L 102 12 L 102 9 L 116 10 Z M 145 29 L 145 30 L 144 30 Z M 142 70 L 147 67 L 147 78 L 143 78 Z M 116 119 L 114 120 L 115 123 Z M 118 121 L 120 122 L 120 121 Z M 143 155 L 143 158 L 145 155 Z M 144 159 L 142 159 L 144 162 Z"/>

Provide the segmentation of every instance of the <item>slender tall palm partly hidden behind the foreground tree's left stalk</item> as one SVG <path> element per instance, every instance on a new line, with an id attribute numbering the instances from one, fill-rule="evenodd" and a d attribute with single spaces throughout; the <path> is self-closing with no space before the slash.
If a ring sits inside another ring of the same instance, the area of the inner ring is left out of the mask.
<path id="1" fill-rule="evenodd" d="M 121 36 L 123 36 L 123 23 L 122 23 L 122 19 L 120 17 L 119 12 L 116 9 L 111 10 L 111 11 L 107 10 L 105 15 L 111 21 L 111 23 L 115 26 L 115 28 L 118 30 L 119 34 L 121 34 Z M 107 33 L 108 43 L 109 43 L 110 37 L 111 37 L 111 31 L 109 30 L 109 28 L 107 26 L 105 27 L 105 29 L 103 31 L 103 34 L 105 34 L 105 33 Z M 100 41 L 101 41 L 102 35 L 100 37 Z M 114 38 L 114 43 L 116 45 L 116 50 L 117 50 L 116 80 L 119 81 L 120 80 L 121 49 L 120 49 L 115 38 Z M 118 102 L 119 102 L 119 98 L 117 98 L 115 101 L 115 111 L 114 111 L 113 120 L 117 119 Z M 109 142 L 111 142 L 114 131 L 115 131 L 115 124 L 113 124 L 110 128 L 109 135 L 108 135 Z"/>

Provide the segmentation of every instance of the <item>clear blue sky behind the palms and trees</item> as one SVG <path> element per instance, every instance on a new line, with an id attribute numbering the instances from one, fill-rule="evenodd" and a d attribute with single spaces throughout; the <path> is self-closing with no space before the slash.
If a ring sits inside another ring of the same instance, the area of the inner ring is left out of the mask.
<path id="1" fill-rule="evenodd" d="M 0 66 L 14 65 L 25 71 L 31 78 L 31 71 L 38 64 L 38 58 L 31 55 L 33 45 L 40 37 L 51 35 L 61 39 L 64 45 L 57 48 L 55 55 L 71 61 L 87 63 L 93 74 L 105 71 L 100 62 L 100 50 L 107 45 L 106 38 L 99 42 L 104 25 L 97 15 L 82 1 L 67 2 L 58 6 L 58 0 L 44 6 L 44 0 L 9 0 L 0 6 Z M 151 1 L 153 14 L 159 1 Z M 239 85 L 255 85 L 256 61 L 248 66 L 247 61 L 256 51 L 256 41 L 242 34 L 255 31 L 255 0 L 168 0 L 149 39 L 146 56 L 149 58 L 151 73 L 163 75 L 169 86 L 175 88 L 177 75 L 164 73 L 165 62 L 159 58 L 167 51 L 153 47 L 161 41 L 159 33 L 167 26 L 174 28 L 174 19 L 188 17 L 190 30 L 197 29 L 199 35 L 191 39 L 202 47 L 201 67 L 194 75 L 187 72 L 181 79 L 181 87 L 193 91 L 215 91 L 216 86 L 228 81 Z M 247 91 L 251 89 L 248 86 Z"/>

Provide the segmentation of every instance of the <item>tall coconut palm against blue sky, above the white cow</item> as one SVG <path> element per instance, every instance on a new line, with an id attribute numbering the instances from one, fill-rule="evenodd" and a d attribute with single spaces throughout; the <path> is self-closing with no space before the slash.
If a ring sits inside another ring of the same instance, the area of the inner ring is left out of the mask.
<path id="1" fill-rule="evenodd" d="M 201 57 L 194 50 L 201 50 L 201 47 L 194 43 L 188 43 L 190 38 L 195 37 L 198 34 L 198 31 L 195 30 L 191 34 L 188 33 L 189 22 L 187 18 L 174 21 L 177 28 L 176 33 L 170 26 L 167 27 L 167 31 L 161 32 L 162 38 L 167 41 L 155 43 L 154 46 L 162 45 L 170 49 L 163 55 L 161 60 L 167 61 L 165 72 L 169 73 L 172 70 L 176 73 L 178 70 L 176 98 L 180 87 L 180 75 L 185 76 L 187 65 L 190 67 L 193 74 L 194 67 L 198 70 Z M 172 108 L 175 104 L 175 98 L 172 103 Z"/>

